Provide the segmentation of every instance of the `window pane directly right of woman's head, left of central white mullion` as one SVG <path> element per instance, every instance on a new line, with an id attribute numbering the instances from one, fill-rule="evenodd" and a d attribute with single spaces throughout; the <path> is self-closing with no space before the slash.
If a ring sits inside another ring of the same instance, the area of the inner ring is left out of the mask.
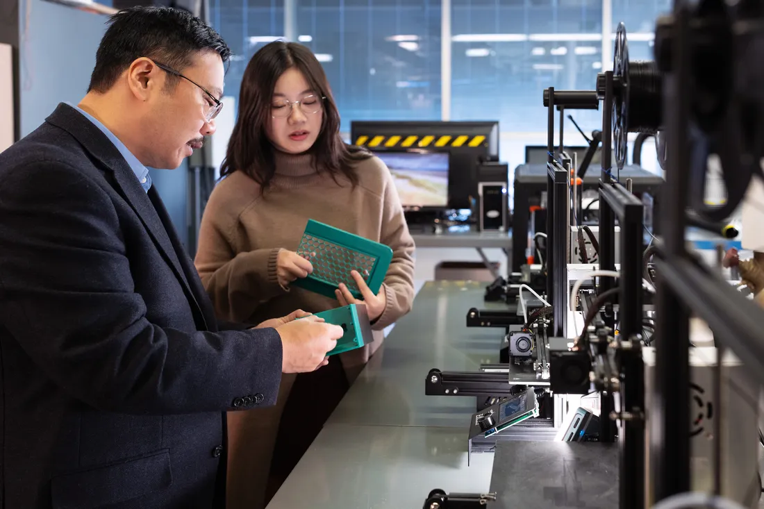
<path id="1" fill-rule="evenodd" d="M 440 118 L 440 0 L 296 0 L 299 41 L 322 61 L 342 117 Z"/>

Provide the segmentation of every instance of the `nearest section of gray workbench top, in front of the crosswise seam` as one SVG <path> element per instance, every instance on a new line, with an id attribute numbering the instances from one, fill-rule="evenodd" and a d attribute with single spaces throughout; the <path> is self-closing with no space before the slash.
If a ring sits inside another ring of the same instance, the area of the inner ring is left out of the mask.
<path id="1" fill-rule="evenodd" d="M 419 509 L 434 488 L 487 492 L 493 454 L 467 466 L 466 432 L 328 425 L 268 509 Z"/>

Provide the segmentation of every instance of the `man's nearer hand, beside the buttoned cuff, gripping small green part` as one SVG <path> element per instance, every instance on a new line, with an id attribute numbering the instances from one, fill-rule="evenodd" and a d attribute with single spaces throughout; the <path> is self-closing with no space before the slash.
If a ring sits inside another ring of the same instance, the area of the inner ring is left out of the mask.
<path id="1" fill-rule="evenodd" d="M 283 348 L 283 373 L 307 373 L 329 364 L 327 353 L 337 346 L 345 331 L 317 316 L 293 320 L 277 327 Z"/>

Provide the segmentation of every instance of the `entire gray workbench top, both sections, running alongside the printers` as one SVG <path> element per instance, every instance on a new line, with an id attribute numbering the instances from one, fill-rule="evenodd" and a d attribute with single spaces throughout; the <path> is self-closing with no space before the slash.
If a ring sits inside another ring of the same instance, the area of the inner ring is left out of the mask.
<path id="1" fill-rule="evenodd" d="M 422 507 L 432 488 L 486 492 L 492 454 L 467 466 L 474 397 L 425 396 L 430 368 L 498 361 L 501 329 L 468 329 L 485 284 L 429 282 L 345 395 L 268 509 Z"/>

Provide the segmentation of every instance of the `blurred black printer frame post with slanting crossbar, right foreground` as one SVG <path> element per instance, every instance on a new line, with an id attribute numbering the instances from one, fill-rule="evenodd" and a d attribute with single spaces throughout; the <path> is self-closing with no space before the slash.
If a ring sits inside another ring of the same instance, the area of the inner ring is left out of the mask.
<path id="1" fill-rule="evenodd" d="M 764 310 L 743 297 L 685 248 L 685 210 L 688 206 L 686 183 L 691 176 L 690 119 L 694 87 L 692 9 L 690 2 L 675 0 L 672 34 L 656 55 L 664 59 L 665 79 L 663 115 L 668 139 L 666 161 L 665 214 L 663 215 L 663 254 L 657 268 L 656 394 L 651 408 L 650 449 L 652 485 L 656 501 L 690 491 L 690 439 L 685 426 L 689 421 L 690 314 L 703 319 L 714 338 L 744 359 L 743 365 L 754 380 L 764 383 Z M 704 34 L 705 36 L 705 34 Z M 660 45 L 659 41 L 659 45 Z M 725 168 L 733 171 L 733 168 Z M 662 340 L 666 339 L 666 340 Z"/>

